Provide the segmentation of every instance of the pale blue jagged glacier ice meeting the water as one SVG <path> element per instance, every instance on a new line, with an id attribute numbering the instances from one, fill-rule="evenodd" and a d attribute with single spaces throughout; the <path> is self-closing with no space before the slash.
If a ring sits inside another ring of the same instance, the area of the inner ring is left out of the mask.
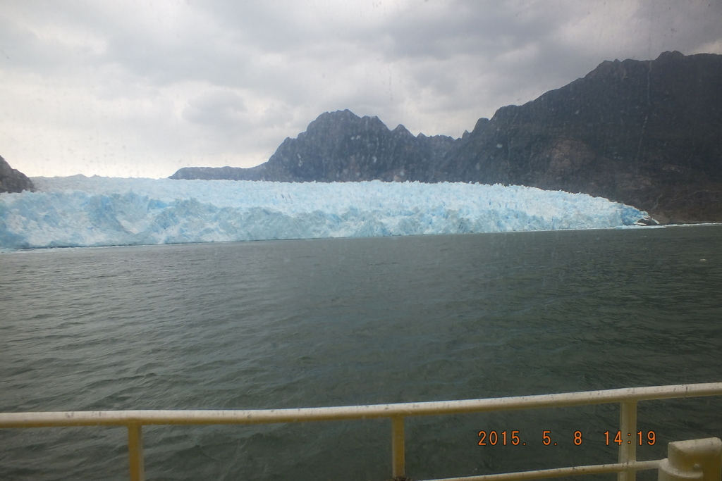
<path id="1" fill-rule="evenodd" d="M 647 213 L 534 187 L 34 177 L 0 194 L 0 250 L 603 229 Z"/>

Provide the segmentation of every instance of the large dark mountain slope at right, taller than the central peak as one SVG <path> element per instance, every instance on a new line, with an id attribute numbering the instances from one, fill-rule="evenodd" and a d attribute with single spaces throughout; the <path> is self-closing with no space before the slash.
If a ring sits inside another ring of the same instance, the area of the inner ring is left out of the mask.
<path id="1" fill-rule="evenodd" d="M 443 170 L 601 195 L 663 221 L 722 221 L 722 56 L 601 63 L 497 110 Z"/>

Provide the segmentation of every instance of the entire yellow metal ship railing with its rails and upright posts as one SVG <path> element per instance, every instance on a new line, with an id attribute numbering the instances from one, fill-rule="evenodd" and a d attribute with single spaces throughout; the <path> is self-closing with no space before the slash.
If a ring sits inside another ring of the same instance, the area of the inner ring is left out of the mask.
<path id="1" fill-rule="evenodd" d="M 142 481 L 144 480 L 142 437 L 142 426 L 144 425 L 270 424 L 389 418 L 391 419 L 391 464 L 393 476 L 397 477 L 405 475 L 404 418 L 408 416 L 600 405 L 619 402 L 621 405 L 619 431 L 622 433 L 635 433 L 637 431 L 637 403 L 639 401 L 716 395 L 722 395 L 722 382 L 630 387 L 604 391 L 497 397 L 480 400 L 404 402 L 386 405 L 303 407 L 277 410 L 3 412 L 0 413 L 0 428 L 126 426 L 128 428 L 131 481 Z M 638 462 L 636 461 L 635 443 L 623 443 L 619 446 L 619 462 L 617 464 L 543 469 L 502 475 L 448 478 L 448 480 L 511 481 L 617 472 L 619 473 L 618 481 L 635 481 L 636 471 L 656 469 L 661 461 L 660 459 Z"/>

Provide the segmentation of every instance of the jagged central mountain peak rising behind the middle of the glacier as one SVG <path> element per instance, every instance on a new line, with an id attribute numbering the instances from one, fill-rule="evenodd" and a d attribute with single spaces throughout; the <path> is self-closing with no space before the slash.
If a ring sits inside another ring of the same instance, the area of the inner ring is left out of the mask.
<path id="1" fill-rule="evenodd" d="M 399 125 L 389 130 L 378 117 L 350 110 L 326 112 L 297 138 L 286 138 L 268 162 L 237 167 L 186 167 L 172 179 L 352 182 L 360 180 L 428 182 L 440 177 L 433 166 L 454 149 L 447 136 L 414 136 Z"/>

